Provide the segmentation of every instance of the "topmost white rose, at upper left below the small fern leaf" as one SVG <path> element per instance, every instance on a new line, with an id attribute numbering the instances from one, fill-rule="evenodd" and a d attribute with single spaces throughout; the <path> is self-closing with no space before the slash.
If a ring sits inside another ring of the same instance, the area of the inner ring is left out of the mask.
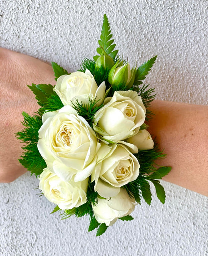
<path id="1" fill-rule="evenodd" d="M 105 89 L 105 82 L 98 87 L 89 70 L 85 73 L 77 71 L 70 75 L 60 76 L 54 87 L 63 105 L 72 105 L 71 101 L 75 104 L 76 100 L 88 105 L 89 98 L 91 100 L 96 98 L 97 106 L 99 106 L 104 100 Z"/>

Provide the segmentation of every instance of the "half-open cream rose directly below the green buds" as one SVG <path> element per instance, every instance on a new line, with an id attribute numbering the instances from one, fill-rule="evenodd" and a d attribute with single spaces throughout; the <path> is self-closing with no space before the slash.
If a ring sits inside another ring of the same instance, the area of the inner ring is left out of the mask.
<path id="1" fill-rule="evenodd" d="M 119 142 L 139 131 L 145 113 L 141 97 L 136 92 L 117 91 L 94 115 L 94 130 L 103 140 Z"/>

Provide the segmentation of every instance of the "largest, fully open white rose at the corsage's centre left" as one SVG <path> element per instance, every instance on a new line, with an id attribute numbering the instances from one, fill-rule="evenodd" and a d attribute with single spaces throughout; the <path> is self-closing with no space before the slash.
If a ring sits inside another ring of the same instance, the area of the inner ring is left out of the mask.
<path id="1" fill-rule="evenodd" d="M 42 121 L 37 147 L 49 169 L 65 181 L 89 177 L 99 144 L 87 121 L 71 106 L 46 112 Z"/>

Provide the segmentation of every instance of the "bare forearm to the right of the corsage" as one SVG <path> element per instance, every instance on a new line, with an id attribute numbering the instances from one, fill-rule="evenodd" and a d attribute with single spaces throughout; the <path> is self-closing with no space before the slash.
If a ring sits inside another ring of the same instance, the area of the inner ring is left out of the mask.
<path id="1" fill-rule="evenodd" d="M 167 154 L 156 163 L 172 166 L 163 178 L 208 196 L 208 106 L 154 100 L 148 131 Z"/>

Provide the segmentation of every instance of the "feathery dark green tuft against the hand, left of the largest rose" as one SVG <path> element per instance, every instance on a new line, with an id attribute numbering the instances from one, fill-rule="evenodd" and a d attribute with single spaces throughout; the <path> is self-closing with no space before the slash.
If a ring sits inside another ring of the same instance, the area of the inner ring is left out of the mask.
<path id="1" fill-rule="evenodd" d="M 39 129 L 42 125 L 42 119 L 39 115 L 30 116 L 23 112 L 24 121 L 22 124 L 25 128 L 21 132 L 16 133 L 16 137 L 25 143 L 22 147 L 24 153 L 19 159 L 19 162 L 26 168 L 31 174 L 39 176 L 43 169 L 46 168 L 46 163 L 40 155 L 37 142 L 39 140 Z"/>

